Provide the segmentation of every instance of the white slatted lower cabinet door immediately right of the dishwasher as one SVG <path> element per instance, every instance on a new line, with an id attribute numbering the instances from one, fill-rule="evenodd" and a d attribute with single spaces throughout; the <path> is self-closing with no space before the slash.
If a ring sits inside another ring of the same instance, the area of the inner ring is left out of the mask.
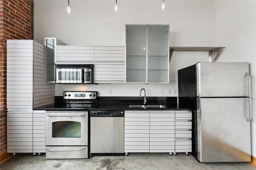
<path id="1" fill-rule="evenodd" d="M 124 111 L 124 152 L 149 152 L 149 113 Z"/>

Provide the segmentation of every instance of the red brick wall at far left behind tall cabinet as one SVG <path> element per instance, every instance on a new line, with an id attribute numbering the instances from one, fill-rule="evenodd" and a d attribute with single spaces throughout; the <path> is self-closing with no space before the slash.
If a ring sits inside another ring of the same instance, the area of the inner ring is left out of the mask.
<path id="1" fill-rule="evenodd" d="M 0 152 L 6 150 L 6 40 L 30 39 L 30 0 L 0 0 Z"/>

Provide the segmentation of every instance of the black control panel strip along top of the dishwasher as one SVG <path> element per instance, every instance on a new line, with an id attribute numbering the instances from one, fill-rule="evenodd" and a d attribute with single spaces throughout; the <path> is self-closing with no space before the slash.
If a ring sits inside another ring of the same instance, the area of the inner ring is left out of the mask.
<path id="1" fill-rule="evenodd" d="M 90 117 L 124 117 L 124 111 L 90 111 Z"/>

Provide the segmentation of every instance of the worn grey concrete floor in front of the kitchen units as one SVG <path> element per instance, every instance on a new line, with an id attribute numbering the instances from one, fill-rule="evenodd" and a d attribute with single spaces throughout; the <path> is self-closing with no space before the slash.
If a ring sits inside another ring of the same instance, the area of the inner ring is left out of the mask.
<path id="1" fill-rule="evenodd" d="M 130 153 L 129 156 L 92 156 L 90 159 L 48 159 L 45 154 L 16 154 L 1 170 L 255 170 L 247 162 L 199 163 L 190 154 Z"/>

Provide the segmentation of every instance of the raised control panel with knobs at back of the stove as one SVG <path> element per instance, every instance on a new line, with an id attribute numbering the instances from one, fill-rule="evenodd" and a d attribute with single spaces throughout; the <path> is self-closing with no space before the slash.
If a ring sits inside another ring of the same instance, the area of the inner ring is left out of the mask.
<path id="1" fill-rule="evenodd" d="M 64 99 L 97 99 L 97 91 L 64 91 Z"/>

